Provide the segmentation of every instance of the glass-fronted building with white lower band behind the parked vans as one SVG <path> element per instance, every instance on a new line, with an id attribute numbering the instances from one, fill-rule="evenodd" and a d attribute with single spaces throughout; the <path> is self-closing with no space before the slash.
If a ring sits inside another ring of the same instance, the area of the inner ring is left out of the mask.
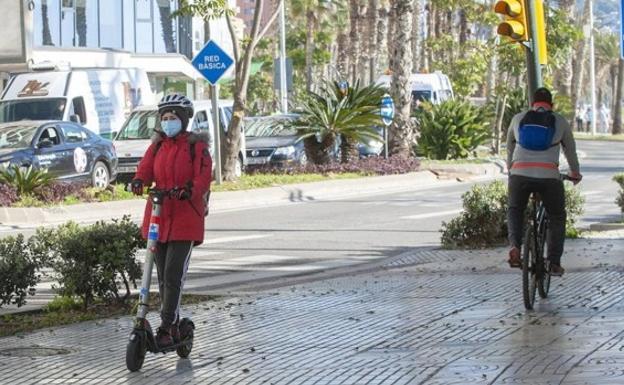
<path id="1" fill-rule="evenodd" d="M 0 88 L 12 73 L 50 63 L 142 68 L 157 95 L 173 89 L 203 94 L 203 78 L 190 62 L 203 47 L 203 20 L 173 16 L 178 0 L 0 0 L 0 5 L 0 33 L 7 38 L 0 41 Z M 213 38 L 231 52 L 225 24 L 214 24 Z"/>

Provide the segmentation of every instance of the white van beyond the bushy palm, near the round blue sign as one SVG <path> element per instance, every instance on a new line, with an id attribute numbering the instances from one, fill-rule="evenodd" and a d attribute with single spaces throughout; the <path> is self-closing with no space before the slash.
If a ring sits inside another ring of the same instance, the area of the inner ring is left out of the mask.
<path id="1" fill-rule="evenodd" d="M 390 88 L 391 82 L 391 75 L 382 75 L 377 80 L 377 84 L 385 88 Z M 410 75 L 410 84 L 412 88 L 412 102 L 416 105 L 424 101 L 440 104 L 455 98 L 450 79 L 438 71 L 430 74 L 412 74 Z"/>

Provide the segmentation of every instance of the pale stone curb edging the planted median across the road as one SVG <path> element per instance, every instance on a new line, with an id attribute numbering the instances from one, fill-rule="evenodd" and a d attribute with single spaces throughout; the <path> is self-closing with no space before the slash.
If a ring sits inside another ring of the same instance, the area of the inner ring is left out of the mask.
<path id="1" fill-rule="evenodd" d="M 451 166 L 450 168 L 445 167 L 444 172 L 470 174 L 475 179 L 493 178 L 502 171 L 499 165 L 491 163 Z M 211 214 L 218 214 L 252 208 L 314 202 L 316 200 L 398 193 L 419 190 L 444 183 L 455 183 L 454 180 L 448 180 L 450 178 L 439 177 L 437 170 L 435 168 L 402 175 L 329 180 L 253 190 L 216 192 L 211 195 L 210 212 Z M 463 181 L 464 178 L 457 178 L 457 180 Z M 98 220 L 110 220 L 123 215 L 129 215 L 131 219 L 138 221 L 143 218 L 144 209 L 145 200 L 143 199 L 81 203 L 48 208 L 0 207 L 0 224 L 15 228 L 34 228 L 57 225 L 67 221 L 89 223 Z"/>

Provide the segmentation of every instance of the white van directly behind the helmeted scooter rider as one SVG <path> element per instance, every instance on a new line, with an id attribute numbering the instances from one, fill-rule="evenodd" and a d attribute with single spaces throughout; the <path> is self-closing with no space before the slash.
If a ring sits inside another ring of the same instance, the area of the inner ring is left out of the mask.
<path id="1" fill-rule="evenodd" d="M 227 132 L 230 120 L 232 120 L 232 106 L 233 102 L 231 100 L 219 101 L 221 132 Z M 189 127 L 191 127 L 193 132 L 208 134 L 210 138 L 210 154 L 214 157 L 215 143 L 213 139 L 212 104 L 209 100 L 199 100 L 193 102 L 193 107 L 195 114 L 189 122 Z M 119 179 L 127 179 L 134 176 L 143 154 L 145 154 L 151 143 L 150 138 L 156 129 L 160 130 L 160 116 L 158 115 L 157 106 L 142 106 L 130 114 L 113 140 L 119 159 L 119 166 L 117 167 Z M 223 139 L 222 137 L 221 143 L 224 143 Z M 242 175 L 246 157 L 245 135 L 243 133 L 241 134 L 240 152 L 236 164 L 236 176 Z M 213 166 L 215 165 L 216 162 L 213 162 Z"/>

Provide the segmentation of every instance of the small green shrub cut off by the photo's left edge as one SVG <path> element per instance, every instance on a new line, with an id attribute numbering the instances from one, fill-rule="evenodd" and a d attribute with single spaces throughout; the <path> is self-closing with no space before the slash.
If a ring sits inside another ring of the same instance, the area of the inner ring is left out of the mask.
<path id="1" fill-rule="evenodd" d="M 26 297 L 35 294 L 40 267 L 41 261 L 22 234 L 0 239 L 0 307 L 25 305 Z"/>

